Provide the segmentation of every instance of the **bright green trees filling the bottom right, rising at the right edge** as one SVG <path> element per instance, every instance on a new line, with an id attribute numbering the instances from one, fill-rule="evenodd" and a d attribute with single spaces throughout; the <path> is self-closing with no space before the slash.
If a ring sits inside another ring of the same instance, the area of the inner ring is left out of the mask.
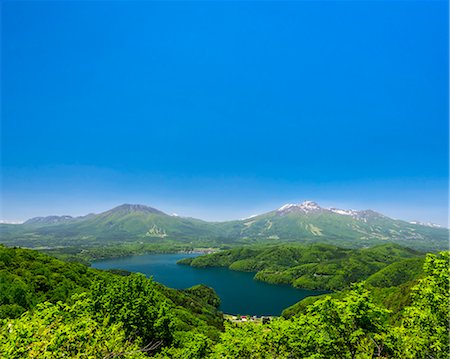
<path id="1" fill-rule="evenodd" d="M 389 283 L 393 278 L 411 282 L 411 276 L 402 274 L 404 264 L 390 270 L 395 268 L 401 273 L 388 276 Z M 345 292 L 310 298 L 289 320 L 229 325 L 212 357 L 448 358 L 449 252 L 429 254 L 424 275 L 413 289 L 411 305 L 399 313 L 400 325 L 390 324 L 390 311 L 367 289 L 374 287 L 360 283 Z"/>

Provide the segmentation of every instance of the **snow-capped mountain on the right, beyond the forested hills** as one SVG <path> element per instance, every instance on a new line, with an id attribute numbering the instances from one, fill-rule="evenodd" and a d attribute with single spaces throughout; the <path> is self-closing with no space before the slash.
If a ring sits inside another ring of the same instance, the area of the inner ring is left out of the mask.
<path id="1" fill-rule="evenodd" d="M 448 248 L 448 229 L 412 224 L 373 210 L 323 208 L 313 201 L 285 204 L 277 210 L 221 224 L 234 238 L 308 240 L 341 245 L 393 241 L 423 248 Z"/>

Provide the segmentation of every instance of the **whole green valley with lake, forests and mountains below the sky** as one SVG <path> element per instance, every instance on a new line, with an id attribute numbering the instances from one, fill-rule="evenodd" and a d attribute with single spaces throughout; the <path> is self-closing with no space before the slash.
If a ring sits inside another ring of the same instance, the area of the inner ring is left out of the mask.
<path id="1" fill-rule="evenodd" d="M 121 205 L 0 234 L 8 358 L 58 340 L 72 357 L 448 356 L 445 228 L 305 201 L 229 222 Z"/>

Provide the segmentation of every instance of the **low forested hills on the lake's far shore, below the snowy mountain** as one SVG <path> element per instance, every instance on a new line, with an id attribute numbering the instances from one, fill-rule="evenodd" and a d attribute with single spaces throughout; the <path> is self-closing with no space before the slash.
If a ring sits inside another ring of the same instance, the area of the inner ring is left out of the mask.
<path id="1" fill-rule="evenodd" d="M 195 267 L 228 267 L 237 271 L 256 272 L 255 279 L 274 284 L 291 284 L 306 289 L 339 290 L 351 283 L 367 279 L 392 263 L 422 256 L 420 252 L 395 244 L 363 249 L 339 248 L 328 244 L 278 245 L 233 248 L 183 259 L 178 263 Z M 403 275 L 417 274 L 417 266 L 411 266 L 411 273 L 405 273 L 410 267 L 408 265 L 404 268 Z M 385 275 L 381 278 L 389 280 Z"/>

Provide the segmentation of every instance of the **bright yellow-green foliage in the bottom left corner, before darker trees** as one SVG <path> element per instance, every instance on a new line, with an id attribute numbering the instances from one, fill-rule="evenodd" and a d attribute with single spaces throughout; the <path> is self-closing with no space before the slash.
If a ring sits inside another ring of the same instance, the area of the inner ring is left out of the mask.
<path id="1" fill-rule="evenodd" d="M 0 353 L 13 358 L 146 358 L 140 342 L 130 342 L 121 324 L 95 320 L 90 303 L 43 303 L 18 319 L 3 320 Z"/>

